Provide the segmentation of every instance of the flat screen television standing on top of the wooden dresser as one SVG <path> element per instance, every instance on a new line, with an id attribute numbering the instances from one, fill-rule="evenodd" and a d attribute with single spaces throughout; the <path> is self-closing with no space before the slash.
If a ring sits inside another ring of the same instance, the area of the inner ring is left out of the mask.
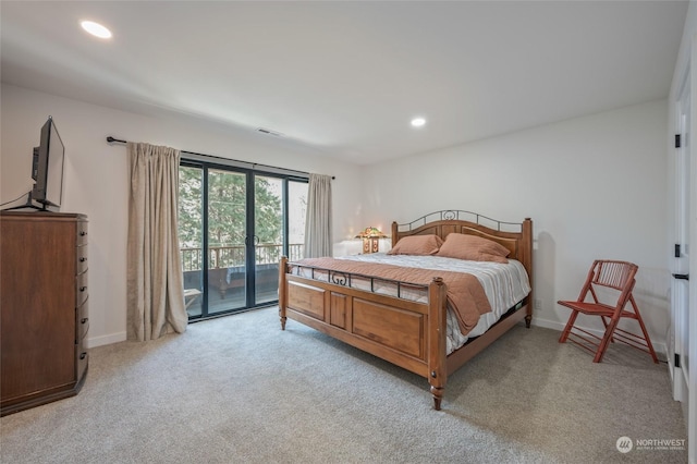
<path id="1" fill-rule="evenodd" d="M 49 206 L 60 208 L 63 198 L 63 159 L 65 147 L 63 141 L 56 129 L 53 118 L 48 120 L 41 127 L 41 138 L 39 146 L 34 148 L 32 160 L 32 188 L 30 199 L 40 203 L 40 209 Z"/>

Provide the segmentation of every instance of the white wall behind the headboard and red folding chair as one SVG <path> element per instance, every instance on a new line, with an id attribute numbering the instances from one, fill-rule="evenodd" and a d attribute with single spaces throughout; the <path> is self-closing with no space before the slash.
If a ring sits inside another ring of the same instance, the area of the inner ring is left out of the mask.
<path id="1" fill-rule="evenodd" d="M 534 323 L 563 328 L 568 312 L 555 302 L 578 296 L 594 259 L 629 260 L 639 266 L 635 297 L 664 347 L 667 111 L 667 100 L 651 101 L 365 167 L 364 222 L 408 222 L 441 209 L 530 217 L 541 301 Z"/>

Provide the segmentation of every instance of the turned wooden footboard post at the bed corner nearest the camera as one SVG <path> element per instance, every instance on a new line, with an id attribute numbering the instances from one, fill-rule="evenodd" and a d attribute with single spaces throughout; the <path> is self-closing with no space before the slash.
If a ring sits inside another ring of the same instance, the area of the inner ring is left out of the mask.
<path id="1" fill-rule="evenodd" d="M 440 411 L 448 370 L 445 365 L 447 334 L 445 283 L 440 277 L 433 278 L 428 286 L 428 383 L 431 386 L 433 408 Z"/>

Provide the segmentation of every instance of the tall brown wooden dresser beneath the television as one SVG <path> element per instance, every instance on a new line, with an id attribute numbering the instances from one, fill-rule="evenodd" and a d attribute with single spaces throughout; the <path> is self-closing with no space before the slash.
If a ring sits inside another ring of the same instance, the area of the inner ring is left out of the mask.
<path id="1" fill-rule="evenodd" d="M 84 215 L 0 212 L 0 415 L 77 394 L 87 295 Z"/>

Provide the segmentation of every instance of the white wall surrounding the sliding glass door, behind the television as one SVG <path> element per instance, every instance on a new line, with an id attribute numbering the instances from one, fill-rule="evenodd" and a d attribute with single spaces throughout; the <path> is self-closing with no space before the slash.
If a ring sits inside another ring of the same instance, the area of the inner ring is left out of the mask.
<path id="1" fill-rule="evenodd" d="M 117 138 L 168 145 L 321 174 L 332 174 L 335 241 L 363 224 L 353 200 L 360 191 L 359 169 L 256 132 L 174 117 L 146 117 L 87 105 L 16 86 L 1 88 L 0 203 L 30 190 L 32 147 L 50 114 L 65 144 L 64 212 L 89 219 L 88 346 L 125 340 L 127 166 Z M 24 199 L 24 198 L 22 198 Z M 22 203 L 22 202 L 19 202 Z"/>

